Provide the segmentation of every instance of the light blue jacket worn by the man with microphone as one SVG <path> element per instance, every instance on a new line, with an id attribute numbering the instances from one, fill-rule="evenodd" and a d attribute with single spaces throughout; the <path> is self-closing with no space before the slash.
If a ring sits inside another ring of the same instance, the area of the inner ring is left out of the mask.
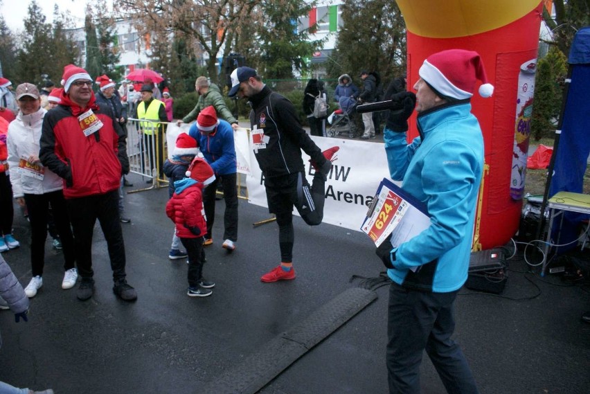
<path id="1" fill-rule="evenodd" d="M 422 112 L 418 132 L 410 144 L 406 133 L 384 132 L 391 178 L 402 180 L 402 188 L 427 204 L 431 216 L 427 230 L 393 249 L 395 268 L 387 274 L 404 287 L 453 292 L 467 280 L 483 136 L 468 100 Z"/>

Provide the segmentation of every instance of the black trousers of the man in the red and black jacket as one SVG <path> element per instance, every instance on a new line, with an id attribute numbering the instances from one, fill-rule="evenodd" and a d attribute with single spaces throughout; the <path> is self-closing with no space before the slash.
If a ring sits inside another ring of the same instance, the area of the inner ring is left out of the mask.
<path id="1" fill-rule="evenodd" d="M 92 235 L 98 219 L 100 229 L 107 240 L 113 280 L 125 280 L 125 242 L 119 219 L 118 190 L 103 195 L 91 195 L 66 199 L 74 235 L 75 256 L 78 274 L 92 278 Z"/>

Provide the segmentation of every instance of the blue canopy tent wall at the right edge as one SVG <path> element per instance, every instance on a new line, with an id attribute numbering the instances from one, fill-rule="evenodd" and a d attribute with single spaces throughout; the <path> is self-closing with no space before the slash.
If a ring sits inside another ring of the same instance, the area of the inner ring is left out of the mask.
<path id="1" fill-rule="evenodd" d="M 590 26 L 578 30 L 569 53 L 569 71 L 562 114 L 557 125 L 553 156 L 541 208 L 542 218 L 547 199 L 557 192 L 582 193 L 584 173 L 590 154 Z M 579 235 L 580 222 L 589 215 L 567 212 L 560 226 L 560 244 L 573 242 Z M 542 220 L 543 222 L 543 220 Z M 555 235 L 555 227 L 553 234 Z M 555 238 L 553 238 L 555 239 Z M 557 249 L 558 253 L 575 247 L 575 242 Z"/>

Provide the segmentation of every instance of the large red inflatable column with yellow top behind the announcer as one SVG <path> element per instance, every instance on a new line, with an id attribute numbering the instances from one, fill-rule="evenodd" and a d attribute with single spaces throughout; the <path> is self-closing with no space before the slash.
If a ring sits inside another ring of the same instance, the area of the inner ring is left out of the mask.
<path id="1" fill-rule="evenodd" d="M 494 85 L 494 95 L 483 99 L 474 94 L 472 98 L 474 114 L 483 130 L 485 163 L 489 166 L 483 178 L 476 237 L 479 236 L 481 249 L 506 244 L 516 233 L 521 216 L 524 170 L 519 173 L 518 166 L 524 163 L 526 168 L 533 100 L 531 84 L 534 85 L 534 77 L 530 78 L 531 71 L 534 72 L 531 64 L 536 64 L 542 3 L 539 0 L 398 0 L 397 3 L 406 21 L 409 87 L 418 80 L 418 69 L 432 53 L 462 48 L 477 51 L 483 59 L 488 81 Z M 524 150 L 524 161 L 520 150 Z"/>

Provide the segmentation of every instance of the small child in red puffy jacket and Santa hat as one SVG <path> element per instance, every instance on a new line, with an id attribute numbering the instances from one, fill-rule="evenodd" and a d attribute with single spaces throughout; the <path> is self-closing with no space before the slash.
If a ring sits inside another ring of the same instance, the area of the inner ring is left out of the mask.
<path id="1" fill-rule="evenodd" d="M 186 178 L 175 182 L 175 192 L 166 204 L 166 215 L 175 223 L 177 235 L 188 253 L 188 291 L 190 297 L 211 296 L 215 283 L 203 278 L 203 237 L 207 233 L 203 189 L 215 180 L 211 165 L 195 157 Z"/>

